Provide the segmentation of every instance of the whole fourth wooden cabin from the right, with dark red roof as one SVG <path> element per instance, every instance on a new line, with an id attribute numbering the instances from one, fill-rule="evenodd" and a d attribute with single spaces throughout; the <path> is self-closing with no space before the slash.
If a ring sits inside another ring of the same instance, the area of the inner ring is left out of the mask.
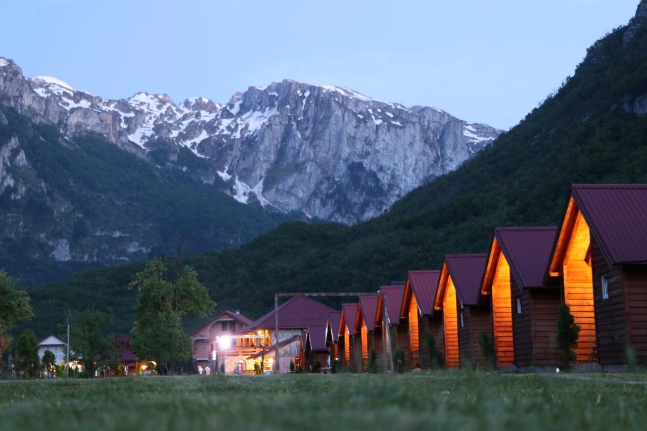
<path id="1" fill-rule="evenodd" d="M 411 364 L 430 368 L 430 353 L 426 333 L 435 339 L 435 346 L 444 351 L 443 312 L 434 312 L 433 300 L 438 288 L 440 271 L 409 271 L 404 286 L 402 315 L 407 316 Z"/>

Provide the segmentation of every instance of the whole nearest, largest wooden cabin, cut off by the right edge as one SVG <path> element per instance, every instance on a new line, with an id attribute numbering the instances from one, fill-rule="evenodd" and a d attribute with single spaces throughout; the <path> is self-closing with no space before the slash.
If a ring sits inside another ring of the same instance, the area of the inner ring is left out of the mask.
<path id="1" fill-rule="evenodd" d="M 549 267 L 582 328 L 577 362 L 647 363 L 647 184 L 573 184 Z"/>

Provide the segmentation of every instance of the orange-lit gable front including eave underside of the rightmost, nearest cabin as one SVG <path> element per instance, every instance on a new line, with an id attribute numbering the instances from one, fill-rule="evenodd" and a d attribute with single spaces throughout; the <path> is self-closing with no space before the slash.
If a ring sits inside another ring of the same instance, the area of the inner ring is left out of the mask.
<path id="1" fill-rule="evenodd" d="M 594 348 L 595 308 L 593 305 L 593 271 L 591 269 L 591 231 L 573 197 L 569 201 L 564 225 L 551 262 L 551 275 L 564 280 L 564 302 L 580 326 L 576 362 L 596 360 Z"/>

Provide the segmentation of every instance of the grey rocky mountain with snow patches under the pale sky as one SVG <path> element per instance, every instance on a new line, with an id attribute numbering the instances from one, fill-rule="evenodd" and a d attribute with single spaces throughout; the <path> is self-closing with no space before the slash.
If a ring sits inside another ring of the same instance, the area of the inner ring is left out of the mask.
<path id="1" fill-rule="evenodd" d="M 148 93 L 104 100 L 56 78 L 26 78 L 5 58 L 0 102 L 67 136 L 100 133 L 142 157 L 163 149 L 166 166 L 204 182 L 218 175 L 241 203 L 347 224 L 381 214 L 501 133 L 440 109 L 291 80 L 250 87 L 224 105 Z M 191 172 L 177 157 L 181 148 L 209 167 Z"/>

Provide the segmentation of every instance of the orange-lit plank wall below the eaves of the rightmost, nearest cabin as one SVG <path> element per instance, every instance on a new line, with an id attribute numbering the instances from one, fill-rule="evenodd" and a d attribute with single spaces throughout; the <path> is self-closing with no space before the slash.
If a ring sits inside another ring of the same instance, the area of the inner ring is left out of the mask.
<path id="1" fill-rule="evenodd" d="M 564 257 L 564 301 L 571 308 L 580 338 L 575 349 L 576 362 L 595 360 L 595 307 L 590 260 L 587 262 L 591 233 L 582 213 L 578 212 Z"/>

